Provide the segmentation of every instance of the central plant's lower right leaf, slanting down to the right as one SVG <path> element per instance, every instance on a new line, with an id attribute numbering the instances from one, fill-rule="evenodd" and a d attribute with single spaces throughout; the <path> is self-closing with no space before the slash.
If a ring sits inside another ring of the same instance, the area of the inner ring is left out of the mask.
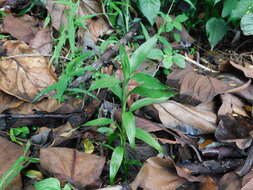
<path id="1" fill-rule="evenodd" d="M 146 132 L 140 128 L 136 128 L 136 138 L 149 144 L 150 146 L 155 148 L 158 152 L 163 152 L 161 145 L 148 132 Z"/>

